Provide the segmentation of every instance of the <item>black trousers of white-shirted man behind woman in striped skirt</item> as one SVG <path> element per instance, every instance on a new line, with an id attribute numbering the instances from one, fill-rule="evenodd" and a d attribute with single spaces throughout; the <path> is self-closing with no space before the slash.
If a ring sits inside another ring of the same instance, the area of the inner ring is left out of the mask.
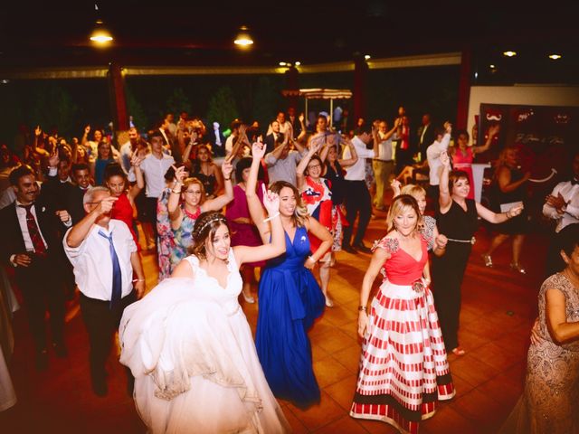
<path id="1" fill-rule="evenodd" d="M 356 216 L 359 214 L 358 226 L 356 228 L 356 236 L 354 237 L 353 245 L 360 244 L 364 240 L 365 229 L 370 222 L 370 214 L 372 213 L 372 199 L 370 192 L 364 181 L 346 181 L 346 220 L 348 225 L 344 230 L 345 246 L 349 246 L 354 231 L 354 222 Z"/>

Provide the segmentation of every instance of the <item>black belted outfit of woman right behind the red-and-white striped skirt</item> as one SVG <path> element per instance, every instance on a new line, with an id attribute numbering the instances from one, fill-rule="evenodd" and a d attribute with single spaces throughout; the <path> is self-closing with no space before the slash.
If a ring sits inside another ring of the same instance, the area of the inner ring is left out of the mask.
<path id="1" fill-rule="evenodd" d="M 434 305 L 447 351 L 459 346 L 460 286 L 472 250 L 470 240 L 479 226 L 475 201 L 465 202 L 466 212 L 452 201 L 448 212 L 436 216 L 439 232 L 449 239 L 444 255 L 432 258 Z"/>

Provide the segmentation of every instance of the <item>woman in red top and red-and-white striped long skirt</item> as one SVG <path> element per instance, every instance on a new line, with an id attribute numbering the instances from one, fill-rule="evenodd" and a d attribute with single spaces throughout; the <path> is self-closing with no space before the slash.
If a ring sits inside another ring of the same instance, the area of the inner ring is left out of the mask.
<path id="1" fill-rule="evenodd" d="M 396 196 L 386 236 L 375 243 L 358 307 L 363 339 L 360 372 L 350 415 L 381 420 L 401 432 L 418 432 L 436 401 L 454 396 L 441 327 L 429 288 L 428 243 L 418 203 Z M 384 281 L 367 312 L 374 280 Z"/>

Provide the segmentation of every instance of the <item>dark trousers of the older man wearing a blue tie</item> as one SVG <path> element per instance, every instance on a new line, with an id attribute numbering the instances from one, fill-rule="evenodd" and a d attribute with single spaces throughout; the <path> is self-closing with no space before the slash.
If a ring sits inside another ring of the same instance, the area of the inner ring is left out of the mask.
<path id="1" fill-rule="evenodd" d="M 93 382 L 105 382 L 107 375 L 105 363 L 109 358 L 113 337 L 119 330 L 123 310 L 136 300 L 137 294 L 132 291 L 127 297 L 120 300 L 119 307 L 111 310 L 109 301 L 98 300 L 81 294 L 81 314 L 89 334 L 90 378 Z"/>

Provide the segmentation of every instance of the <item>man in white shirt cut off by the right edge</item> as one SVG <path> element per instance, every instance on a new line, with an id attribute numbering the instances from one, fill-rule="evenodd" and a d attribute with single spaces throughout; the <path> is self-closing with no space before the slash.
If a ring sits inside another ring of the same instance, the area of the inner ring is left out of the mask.
<path id="1" fill-rule="evenodd" d="M 567 226 L 579 223 L 579 153 L 574 155 L 571 168 L 573 177 L 569 181 L 556 184 L 553 192 L 546 196 L 543 205 L 543 215 L 557 222 L 547 249 L 546 277 L 561 271 L 560 267 L 565 266 L 559 254 L 559 240 L 565 236 L 563 230 Z"/>

